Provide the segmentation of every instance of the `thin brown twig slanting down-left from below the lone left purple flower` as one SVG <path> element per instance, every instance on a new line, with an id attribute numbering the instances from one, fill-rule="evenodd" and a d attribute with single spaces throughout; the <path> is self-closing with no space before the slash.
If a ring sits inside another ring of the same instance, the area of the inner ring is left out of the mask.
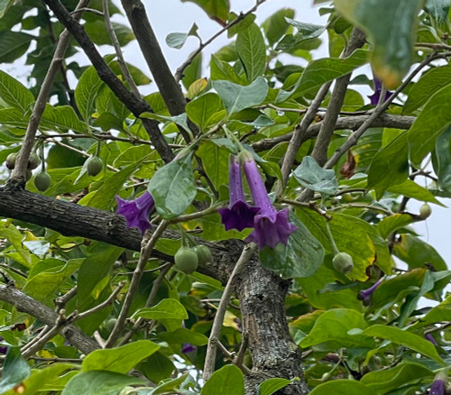
<path id="1" fill-rule="evenodd" d="M 122 305 L 119 316 L 117 317 L 115 326 L 111 331 L 111 334 L 109 335 L 108 339 L 106 340 L 105 344 L 106 348 L 112 347 L 119 338 L 119 336 L 121 335 L 121 332 L 124 328 L 125 319 L 128 317 L 128 312 L 132 306 L 134 296 L 138 291 L 138 286 L 141 281 L 141 278 L 143 277 L 144 267 L 147 263 L 147 260 L 151 256 L 153 247 L 155 246 L 161 234 L 168 225 L 169 225 L 168 221 L 166 220 L 161 221 L 160 225 L 158 225 L 157 229 L 152 234 L 151 239 L 148 242 L 145 239 L 143 240 L 143 247 L 141 249 L 140 259 L 138 261 L 138 264 L 136 265 L 136 268 L 133 271 L 133 277 L 132 280 L 130 281 L 127 294 L 125 295 L 124 304 Z"/>

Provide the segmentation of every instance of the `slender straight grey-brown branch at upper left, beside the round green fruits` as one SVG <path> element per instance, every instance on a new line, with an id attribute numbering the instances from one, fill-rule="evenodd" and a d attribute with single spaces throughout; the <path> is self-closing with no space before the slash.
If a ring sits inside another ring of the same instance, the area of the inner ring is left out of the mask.
<path id="1" fill-rule="evenodd" d="M 80 0 L 77 8 L 85 7 L 88 3 L 89 0 Z M 80 16 L 81 14 L 78 14 L 78 17 Z M 25 132 L 25 136 L 23 137 L 21 150 L 17 155 L 14 170 L 11 174 L 11 179 L 18 180 L 21 183 L 25 182 L 25 173 L 27 169 L 28 158 L 30 157 L 30 153 L 32 152 L 34 137 L 36 135 L 36 131 L 38 130 L 38 126 L 41 121 L 47 99 L 49 98 L 49 95 L 51 93 L 51 87 L 53 87 L 55 77 L 58 74 L 58 71 L 60 70 L 63 63 L 64 54 L 69 47 L 70 37 L 71 34 L 67 29 L 65 29 L 64 32 L 61 33 L 60 41 L 58 41 L 58 45 L 51 59 L 51 64 L 42 82 L 41 89 L 39 91 L 38 97 L 36 98 L 36 102 L 34 103 L 32 115 L 30 115 L 27 130 Z"/>

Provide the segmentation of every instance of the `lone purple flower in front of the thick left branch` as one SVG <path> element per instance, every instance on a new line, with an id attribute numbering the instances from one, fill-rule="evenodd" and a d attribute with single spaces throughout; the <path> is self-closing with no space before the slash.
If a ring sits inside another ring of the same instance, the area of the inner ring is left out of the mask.
<path id="1" fill-rule="evenodd" d="M 133 200 L 124 200 L 118 196 L 115 199 L 117 201 L 116 214 L 125 217 L 128 228 L 137 227 L 141 231 L 141 234 L 144 234 L 147 229 L 152 228 L 149 222 L 149 215 L 153 207 L 155 207 L 155 202 L 148 191 L 145 191 L 143 195 Z"/>

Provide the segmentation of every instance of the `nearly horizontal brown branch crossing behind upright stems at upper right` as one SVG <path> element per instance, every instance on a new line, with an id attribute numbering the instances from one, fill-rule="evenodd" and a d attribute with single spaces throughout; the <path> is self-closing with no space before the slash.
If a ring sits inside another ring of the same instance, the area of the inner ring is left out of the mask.
<path id="1" fill-rule="evenodd" d="M 336 120 L 335 130 L 357 130 L 362 124 L 364 124 L 364 122 L 368 120 L 369 117 L 370 115 L 358 115 L 338 118 Z M 416 116 L 381 114 L 373 119 L 370 127 L 392 127 L 395 129 L 409 129 L 416 119 Z M 318 135 L 321 124 L 322 122 L 318 122 L 318 124 L 311 124 L 310 126 L 308 126 L 306 132 L 301 136 L 300 143 L 306 142 L 308 139 L 311 139 Z M 296 130 L 298 130 L 299 127 L 300 125 L 296 128 Z M 296 133 L 296 131 L 294 133 Z M 262 139 L 260 142 L 253 142 L 253 150 L 255 152 L 271 150 L 274 145 L 277 145 L 281 142 L 289 142 L 290 139 L 292 139 L 294 133 L 287 133 L 278 137 L 274 137 L 272 139 Z"/>

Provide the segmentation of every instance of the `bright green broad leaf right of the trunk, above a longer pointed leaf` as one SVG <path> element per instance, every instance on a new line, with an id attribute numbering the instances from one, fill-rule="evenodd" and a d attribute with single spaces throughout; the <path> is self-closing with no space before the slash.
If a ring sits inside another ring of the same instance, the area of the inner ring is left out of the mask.
<path id="1" fill-rule="evenodd" d="M 325 311 L 318 317 L 313 329 L 299 345 L 303 348 L 323 344 L 323 351 L 336 350 L 341 347 L 373 348 L 374 341 L 364 335 L 349 335 L 351 329 L 364 329 L 368 326 L 362 313 L 350 308 L 335 308 Z"/>

